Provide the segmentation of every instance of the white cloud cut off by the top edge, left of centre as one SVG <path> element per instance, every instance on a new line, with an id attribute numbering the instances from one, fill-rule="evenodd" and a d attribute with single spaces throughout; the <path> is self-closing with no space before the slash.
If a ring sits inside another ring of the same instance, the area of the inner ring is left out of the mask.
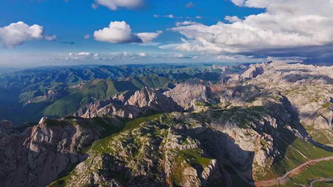
<path id="1" fill-rule="evenodd" d="M 142 6 L 144 0 L 95 0 L 95 3 L 92 4 L 92 8 L 97 8 L 97 4 L 106 6 L 110 10 L 116 10 L 119 7 L 133 9 Z"/>

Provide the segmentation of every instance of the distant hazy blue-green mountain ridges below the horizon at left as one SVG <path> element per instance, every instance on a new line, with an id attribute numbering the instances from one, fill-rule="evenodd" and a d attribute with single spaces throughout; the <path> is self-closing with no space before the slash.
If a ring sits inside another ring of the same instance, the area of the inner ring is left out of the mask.
<path id="1" fill-rule="evenodd" d="M 116 93 L 166 89 L 189 78 L 217 81 L 220 73 L 206 65 L 174 64 L 31 68 L 0 75 L 0 119 L 19 125 L 41 116 L 62 117 Z"/>

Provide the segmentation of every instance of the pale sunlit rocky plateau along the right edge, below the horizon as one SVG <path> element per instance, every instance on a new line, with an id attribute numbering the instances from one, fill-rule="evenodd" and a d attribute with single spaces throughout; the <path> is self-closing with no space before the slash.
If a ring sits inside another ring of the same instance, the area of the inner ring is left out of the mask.
<path id="1" fill-rule="evenodd" d="M 331 145 L 332 83 L 332 67 L 272 62 L 265 66 L 262 75 L 247 84 L 264 88 L 260 93 L 277 91 L 285 95 L 296 111 L 296 118 L 314 139 Z"/>

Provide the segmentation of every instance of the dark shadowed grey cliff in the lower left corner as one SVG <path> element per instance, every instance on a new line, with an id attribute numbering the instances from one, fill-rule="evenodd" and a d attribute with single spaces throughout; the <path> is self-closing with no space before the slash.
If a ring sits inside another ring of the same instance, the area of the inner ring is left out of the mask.
<path id="1" fill-rule="evenodd" d="M 98 121 L 98 123 L 97 123 Z M 83 149 L 102 138 L 119 120 L 42 118 L 23 133 L 0 130 L 0 186 L 45 187 L 86 158 Z M 109 126 L 109 127 L 108 127 Z"/>

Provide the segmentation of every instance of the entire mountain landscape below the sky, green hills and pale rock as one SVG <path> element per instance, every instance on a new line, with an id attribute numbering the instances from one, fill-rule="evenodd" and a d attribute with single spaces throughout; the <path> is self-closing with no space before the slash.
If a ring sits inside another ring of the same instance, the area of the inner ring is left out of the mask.
<path id="1" fill-rule="evenodd" d="M 332 185 L 333 66 L 51 67 L 0 89 L 0 187 Z"/>

